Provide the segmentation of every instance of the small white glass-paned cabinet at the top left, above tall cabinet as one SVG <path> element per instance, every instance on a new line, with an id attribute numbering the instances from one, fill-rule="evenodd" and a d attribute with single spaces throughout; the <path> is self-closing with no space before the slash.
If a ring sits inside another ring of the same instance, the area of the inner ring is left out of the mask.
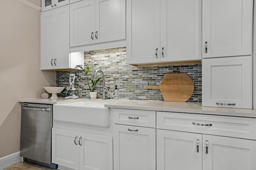
<path id="1" fill-rule="evenodd" d="M 42 0 L 42 12 L 69 4 L 69 0 Z"/>

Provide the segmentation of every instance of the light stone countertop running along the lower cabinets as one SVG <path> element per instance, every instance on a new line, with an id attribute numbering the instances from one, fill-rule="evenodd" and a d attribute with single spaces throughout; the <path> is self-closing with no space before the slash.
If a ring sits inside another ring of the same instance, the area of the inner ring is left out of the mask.
<path id="1" fill-rule="evenodd" d="M 72 102 L 106 102 L 105 107 L 121 108 L 121 109 L 140 109 L 153 111 L 169 111 L 180 113 L 198 113 L 210 115 L 228 115 L 239 117 L 254 117 L 256 118 L 256 110 L 252 109 L 235 109 L 223 107 L 202 107 L 201 103 L 196 102 L 164 102 L 153 100 L 90 100 L 84 98 L 78 99 L 23 99 L 19 102 L 42 103 L 42 104 L 66 104 Z"/>

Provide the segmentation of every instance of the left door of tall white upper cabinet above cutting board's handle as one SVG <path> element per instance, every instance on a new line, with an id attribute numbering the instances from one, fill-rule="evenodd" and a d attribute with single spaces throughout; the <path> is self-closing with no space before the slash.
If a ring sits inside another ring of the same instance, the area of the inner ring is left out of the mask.
<path id="1" fill-rule="evenodd" d="M 127 64 L 160 61 L 160 0 L 127 0 Z"/>

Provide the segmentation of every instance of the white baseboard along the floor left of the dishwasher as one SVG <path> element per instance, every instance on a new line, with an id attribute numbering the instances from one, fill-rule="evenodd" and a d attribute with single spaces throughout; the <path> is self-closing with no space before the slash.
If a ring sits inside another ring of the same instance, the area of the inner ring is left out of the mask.
<path id="1" fill-rule="evenodd" d="M 15 152 L 0 158 L 0 170 L 17 164 L 21 161 L 20 152 Z"/>

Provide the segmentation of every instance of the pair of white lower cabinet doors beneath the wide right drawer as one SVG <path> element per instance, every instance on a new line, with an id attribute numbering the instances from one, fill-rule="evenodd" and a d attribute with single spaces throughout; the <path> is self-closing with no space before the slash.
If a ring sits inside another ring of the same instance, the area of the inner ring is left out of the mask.
<path id="1" fill-rule="evenodd" d="M 157 129 L 157 170 L 255 170 L 256 141 Z"/>

